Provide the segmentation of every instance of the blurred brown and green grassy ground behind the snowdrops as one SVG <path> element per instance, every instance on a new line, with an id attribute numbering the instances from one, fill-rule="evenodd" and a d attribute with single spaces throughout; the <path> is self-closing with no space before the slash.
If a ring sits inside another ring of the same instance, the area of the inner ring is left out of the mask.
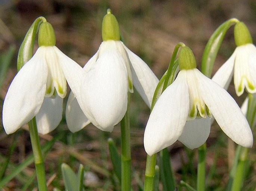
<path id="1" fill-rule="evenodd" d="M 124 43 L 139 55 L 158 79 L 166 71 L 173 48 L 178 42 L 192 49 L 200 69 L 204 47 L 215 29 L 226 20 L 235 17 L 249 28 L 253 41 L 256 41 L 256 1 L 255 0 L 0 0 L 0 52 L 6 55 L 10 46 L 15 50 L 0 91 L 0 107 L 10 82 L 16 74 L 16 58 L 19 46 L 38 16 L 44 16 L 53 25 L 56 46 L 81 66 L 92 57 L 101 44 L 101 23 L 107 8 L 118 20 Z M 36 45 L 37 46 L 37 45 Z M 227 32 L 215 61 L 213 73 L 223 64 L 235 49 L 233 27 Z M 3 57 L 3 56 L 2 56 Z M 231 85 L 229 92 L 241 105 L 246 95 L 235 96 Z M 133 189 L 144 179 L 146 153 L 143 147 L 143 134 L 148 120 L 149 108 L 135 91 L 131 96 L 131 139 Z M 2 126 L 2 124 L 1 124 Z M 26 126 L 24 127 L 27 128 Z M 64 190 L 60 165 L 68 163 L 76 172 L 82 163 L 86 169 L 87 190 L 116 190 L 118 185 L 112 177 L 112 165 L 108 154 L 107 139 L 114 139 L 120 149 L 120 128 L 105 133 L 93 125 L 88 125 L 78 133 L 70 133 L 62 123 L 52 133 L 41 136 L 41 142 L 59 136 L 46 157 L 49 190 L 54 187 Z M 16 165 L 31 154 L 29 133 L 20 129 L 7 136 L 0 130 L 0 163 L 8 156 L 9 148 L 17 142 L 10 157 L 8 174 Z M 207 140 L 207 184 L 208 190 L 218 190 L 228 180 L 228 169 L 234 156 L 235 144 L 214 124 Z M 177 142 L 170 148 L 172 166 L 177 182 L 181 179 L 192 186 L 196 185 L 196 150 L 189 150 Z M 194 157 L 195 156 L 195 157 Z M 193 160 L 191 160 L 193 159 Z M 250 169 L 244 190 L 254 190 L 256 186 L 256 148 L 250 149 Z M 12 179 L 3 190 L 21 190 L 33 175 L 33 163 L 21 174 Z M 31 181 L 28 190 L 36 185 Z M 160 188 L 161 190 L 161 188 Z M 221 190 L 221 189 L 219 189 Z"/>

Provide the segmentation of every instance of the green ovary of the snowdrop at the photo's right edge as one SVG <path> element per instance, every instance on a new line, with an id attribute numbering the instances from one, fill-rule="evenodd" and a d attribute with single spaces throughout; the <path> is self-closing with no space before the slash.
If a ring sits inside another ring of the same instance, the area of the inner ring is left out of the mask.
<path id="1" fill-rule="evenodd" d="M 237 46 L 252 43 L 252 36 L 249 29 L 243 22 L 238 22 L 234 27 L 234 38 Z"/>

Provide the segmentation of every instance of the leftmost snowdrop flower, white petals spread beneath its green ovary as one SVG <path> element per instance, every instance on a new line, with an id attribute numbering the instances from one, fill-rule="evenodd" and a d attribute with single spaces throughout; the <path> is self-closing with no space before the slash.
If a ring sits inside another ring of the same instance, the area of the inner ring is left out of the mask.
<path id="1" fill-rule="evenodd" d="M 7 134 L 35 116 L 42 134 L 54 130 L 61 121 L 66 78 L 76 79 L 71 73 L 83 69 L 55 47 L 55 42 L 52 25 L 43 22 L 38 31 L 39 48 L 16 74 L 4 99 L 3 126 Z"/>

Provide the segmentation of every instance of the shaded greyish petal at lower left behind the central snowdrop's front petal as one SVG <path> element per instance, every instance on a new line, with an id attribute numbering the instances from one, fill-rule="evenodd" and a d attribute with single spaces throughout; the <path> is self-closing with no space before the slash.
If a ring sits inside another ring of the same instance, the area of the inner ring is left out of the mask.
<path id="1" fill-rule="evenodd" d="M 72 133 L 80 131 L 90 123 L 88 118 L 84 115 L 84 112 L 81 110 L 73 92 L 70 92 L 70 96 L 68 97 L 66 121 L 68 128 Z"/>

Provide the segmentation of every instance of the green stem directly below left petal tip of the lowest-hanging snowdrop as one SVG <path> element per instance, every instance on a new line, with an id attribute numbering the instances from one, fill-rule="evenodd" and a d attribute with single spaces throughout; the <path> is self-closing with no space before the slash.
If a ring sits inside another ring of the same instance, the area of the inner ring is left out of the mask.
<path id="1" fill-rule="evenodd" d="M 155 162 L 157 154 L 146 156 L 144 191 L 154 191 Z"/>

